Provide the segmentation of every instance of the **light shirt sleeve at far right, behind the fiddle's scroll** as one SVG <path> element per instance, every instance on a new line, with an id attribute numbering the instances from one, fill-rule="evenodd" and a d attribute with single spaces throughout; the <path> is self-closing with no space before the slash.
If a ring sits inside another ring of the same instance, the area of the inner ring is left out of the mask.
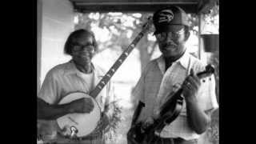
<path id="1" fill-rule="evenodd" d="M 202 78 L 201 83 L 201 88 L 198 91 L 198 100 L 202 110 L 214 111 L 218 109 L 214 74 L 210 77 Z"/>

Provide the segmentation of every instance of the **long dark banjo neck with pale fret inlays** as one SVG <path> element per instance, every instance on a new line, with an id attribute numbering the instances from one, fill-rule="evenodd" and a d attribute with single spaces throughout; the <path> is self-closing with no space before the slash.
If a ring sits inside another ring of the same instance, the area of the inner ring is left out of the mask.
<path id="1" fill-rule="evenodd" d="M 111 66 L 110 70 L 104 75 L 104 77 L 101 79 L 100 82 L 98 82 L 98 85 L 90 92 L 90 96 L 95 98 L 100 91 L 106 86 L 107 82 L 110 81 L 110 78 L 114 75 L 114 73 L 118 70 L 118 68 L 122 65 L 122 62 L 126 60 L 128 55 L 132 50 L 134 50 L 134 47 L 137 45 L 139 40 L 146 34 L 146 32 L 150 29 L 150 26 L 152 25 L 152 17 L 148 18 L 148 21 L 143 26 L 142 31 L 134 38 L 133 42 L 130 43 L 130 45 L 122 52 L 122 54 L 119 56 L 118 60 L 114 62 L 114 65 Z"/>

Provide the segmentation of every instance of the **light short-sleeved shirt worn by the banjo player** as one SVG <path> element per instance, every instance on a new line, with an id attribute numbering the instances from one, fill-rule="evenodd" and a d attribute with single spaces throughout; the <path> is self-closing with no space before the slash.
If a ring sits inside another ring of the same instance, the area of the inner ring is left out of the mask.
<path id="1" fill-rule="evenodd" d="M 85 77 L 82 72 L 74 66 L 73 61 L 54 66 L 54 68 L 46 74 L 46 78 L 42 83 L 42 88 L 38 93 L 38 98 L 42 98 L 50 104 L 58 104 L 58 102 L 60 102 L 67 94 L 70 94 L 70 92 L 82 91 L 89 94 L 90 90 L 94 89 L 105 74 L 105 72 L 98 66 L 93 66 L 93 71 L 93 78 L 89 78 Z M 90 86 L 91 84 L 92 86 Z M 104 110 L 104 107 L 113 100 L 113 95 L 113 87 L 110 85 L 110 82 L 108 82 L 95 98 L 102 111 Z M 45 127 L 48 127 L 45 129 L 47 131 L 49 130 L 46 132 L 47 134 L 54 135 L 58 131 L 56 120 L 38 120 L 38 125 L 40 126 L 42 124 L 44 124 Z M 61 139 L 59 139 L 59 141 L 62 142 Z"/>

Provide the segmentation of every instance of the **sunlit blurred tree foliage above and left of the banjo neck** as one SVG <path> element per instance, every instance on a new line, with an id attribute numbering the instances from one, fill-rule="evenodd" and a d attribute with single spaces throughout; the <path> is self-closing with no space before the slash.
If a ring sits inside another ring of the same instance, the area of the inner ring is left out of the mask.
<path id="1" fill-rule="evenodd" d="M 149 14 L 122 14 L 122 13 L 78 13 L 78 23 L 75 29 L 91 30 L 93 26 L 106 29 L 110 32 L 110 40 L 100 42 L 104 47 L 121 46 L 125 48 L 133 40 L 135 34 L 138 34 Z"/>

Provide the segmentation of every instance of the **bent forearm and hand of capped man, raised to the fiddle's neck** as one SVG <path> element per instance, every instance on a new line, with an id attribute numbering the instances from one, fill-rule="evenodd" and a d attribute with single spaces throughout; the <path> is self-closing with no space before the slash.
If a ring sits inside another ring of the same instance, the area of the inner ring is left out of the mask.
<path id="1" fill-rule="evenodd" d="M 213 84 L 214 83 L 211 83 L 211 85 Z M 186 101 L 186 114 L 188 118 L 188 124 L 197 134 L 202 134 L 207 130 L 208 126 L 210 125 L 210 115 L 215 110 L 214 107 L 203 108 L 210 104 L 206 101 L 203 103 L 200 101 L 202 100 L 202 98 L 200 99 L 198 97 L 198 90 L 200 86 L 202 86 L 200 79 L 194 74 L 194 71 L 191 70 L 190 76 L 187 77 L 186 81 L 183 83 L 183 95 Z M 213 94 L 214 91 L 211 90 L 210 93 L 203 94 L 211 93 Z M 206 96 L 204 99 L 206 100 L 207 98 L 208 96 Z"/>

